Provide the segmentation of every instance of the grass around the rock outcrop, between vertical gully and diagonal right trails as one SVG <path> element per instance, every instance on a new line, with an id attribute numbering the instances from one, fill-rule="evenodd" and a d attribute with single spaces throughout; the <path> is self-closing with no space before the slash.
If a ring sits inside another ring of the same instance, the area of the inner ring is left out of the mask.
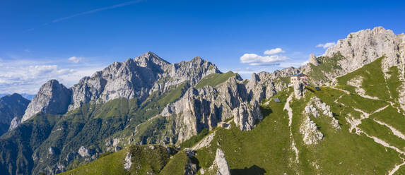
<path id="1" fill-rule="evenodd" d="M 303 107 L 313 95 L 331 106 L 331 111 L 341 124 L 341 129 L 336 131 L 332 128 L 329 117 L 312 117 L 311 119 L 317 123 L 319 131 L 324 134 L 324 139 L 320 140 L 317 145 L 304 145 L 298 128 L 300 121 L 303 121 Z M 315 91 L 315 93 L 307 91 L 305 99 L 294 101 L 291 104 L 294 113 L 293 136 L 296 147 L 300 151 L 298 171 L 300 174 L 336 174 L 336 172 L 339 174 L 385 174 L 393 164 L 401 162 L 398 153 L 385 149 L 364 135 L 349 133 L 350 126 L 344 118 L 347 116 L 345 113 L 353 114 L 353 109 L 342 108 L 339 104 L 334 103 L 334 99 L 339 95 L 341 92 L 335 90 L 329 92 L 329 88 L 322 88 L 321 91 Z M 376 159 L 378 161 L 375 161 Z M 312 164 L 319 165 L 319 169 Z"/>

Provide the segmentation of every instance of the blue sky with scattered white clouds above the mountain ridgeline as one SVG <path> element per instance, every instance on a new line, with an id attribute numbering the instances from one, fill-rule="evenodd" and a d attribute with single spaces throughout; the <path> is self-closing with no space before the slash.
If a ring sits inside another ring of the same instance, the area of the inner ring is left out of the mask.
<path id="1" fill-rule="evenodd" d="M 35 93 L 51 78 L 69 87 L 148 51 L 171 63 L 201 56 L 250 78 L 300 66 L 350 32 L 405 32 L 404 8 L 404 1 L 1 1 L 0 93 Z"/>

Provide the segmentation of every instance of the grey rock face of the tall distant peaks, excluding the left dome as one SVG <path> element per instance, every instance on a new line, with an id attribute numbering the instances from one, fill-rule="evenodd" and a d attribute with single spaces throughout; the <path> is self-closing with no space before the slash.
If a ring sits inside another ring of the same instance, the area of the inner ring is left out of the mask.
<path id="1" fill-rule="evenodd" d="M 123 63 L 115 62 L 91 77 L 82 78 L 78 84 L 71 87 L 72 102 L 69 110 L 97 99 L 107 102 L 121 97 L 139 97 L 143 100 L 154 91 L 165 92 L 172 85 L 184 81 L 194 85 L 211 73 L 221 71 L 200 57 L 170 64 L 156 54 L 146 52 Z"/>

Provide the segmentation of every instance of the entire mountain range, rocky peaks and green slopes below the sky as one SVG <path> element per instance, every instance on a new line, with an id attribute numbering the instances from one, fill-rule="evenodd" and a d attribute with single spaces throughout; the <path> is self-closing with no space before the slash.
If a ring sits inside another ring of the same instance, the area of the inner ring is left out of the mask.
<path id="1" fill-rule="evenodd" d="M 1 98 L 0 172 L 401 174 L 404 111 L 405 35 L 381 27 L 249 80 L 146 52 Z"/>

